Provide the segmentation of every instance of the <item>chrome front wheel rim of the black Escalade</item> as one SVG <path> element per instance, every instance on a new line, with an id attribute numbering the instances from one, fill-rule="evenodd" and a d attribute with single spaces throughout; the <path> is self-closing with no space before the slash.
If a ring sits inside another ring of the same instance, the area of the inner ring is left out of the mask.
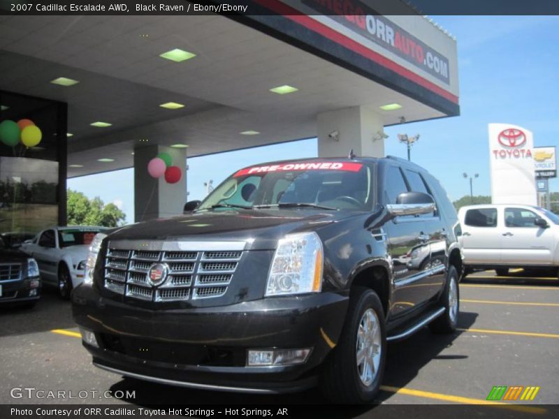
<path id="1" fill-rule="evenodd" d="M 368 309 L 359 321 L 356 341 L 357 372 L 364 385 L 371 385 L 377 378 L 381 351 L 379 318 L 373 309 Z"/>

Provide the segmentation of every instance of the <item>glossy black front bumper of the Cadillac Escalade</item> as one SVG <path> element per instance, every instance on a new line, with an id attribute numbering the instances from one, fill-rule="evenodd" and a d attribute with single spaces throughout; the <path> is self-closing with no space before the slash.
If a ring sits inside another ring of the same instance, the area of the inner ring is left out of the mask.
<path id="1" fill-rule="evenodd" d="M 222 307 L 145 309 L 101 297 L 92 286 L 72 294 L 73 317 L 96 335 L 84 344 L 94 364 L 159 383 L 242 392 L 292 392 L 316 383 L 340 337 L 348 297 L 319 293 Z M 247 350 L 312 348 L 300 365 L 247 367 Z"/>

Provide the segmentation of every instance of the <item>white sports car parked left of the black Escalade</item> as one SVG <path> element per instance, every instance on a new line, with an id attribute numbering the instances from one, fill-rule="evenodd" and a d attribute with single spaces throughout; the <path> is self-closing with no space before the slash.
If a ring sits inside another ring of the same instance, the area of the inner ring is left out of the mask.
<path id="1" fill-rule="evenodd" d="M 105 230 L 97 226 L 51 227 L 24 242 L 21 249 L 37 260 L 43 284 L 56 285 L 60 296 L 68 299 L 84 279 L 89 244 Z"/>

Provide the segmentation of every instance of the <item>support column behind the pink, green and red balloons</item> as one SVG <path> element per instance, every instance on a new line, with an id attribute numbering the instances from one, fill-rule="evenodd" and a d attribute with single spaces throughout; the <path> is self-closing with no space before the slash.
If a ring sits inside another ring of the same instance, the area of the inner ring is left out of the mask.
<path id="1" fill-rule="evenodd" d="M 147 172 L 147 163 L 159 153 L 168 153 L 173 166 L 182 176 L 175 184 L 168 184 L 164 176 L 154 179 Z M 164 145 L 149 145 L 134 150 L 134 220 L 146 221 L 182 214 L 187 202 L 187 149 Z"/>

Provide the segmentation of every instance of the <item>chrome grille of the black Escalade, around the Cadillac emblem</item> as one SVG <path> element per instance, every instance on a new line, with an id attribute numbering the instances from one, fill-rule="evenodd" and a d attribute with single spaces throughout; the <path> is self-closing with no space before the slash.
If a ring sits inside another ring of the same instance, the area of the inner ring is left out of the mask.
<path id="1" fill-rule="evenodd" d="M 187 301 L 225 295 L 233 274 L 242 257 L 244 242 L 155 242 L 146 249 L 138 249 L 139 242 L 112 242 L 108 244 L 105 259 L 104 286 L 113 293 L 126 297 L 152 301 Z M 121 248 L 121 247 L 129 248 Z M 191 246 L 191 250 L 189 247 Z M 207 246 L 206 250 L 204 247 Z M 219 249 L 223 246 L 223 250 Z M 175 250 L 175 249 L 180 250 Z M 136 248 L 136 249 L 135 249 Z M 170 249 L 169 249 L 170 248 Z M 186 249 L 186 250 L 183 250 Z M 148 272 L 154 263 L 168 267 L 167 279 L 159 286 L 148 281 Z"/>

